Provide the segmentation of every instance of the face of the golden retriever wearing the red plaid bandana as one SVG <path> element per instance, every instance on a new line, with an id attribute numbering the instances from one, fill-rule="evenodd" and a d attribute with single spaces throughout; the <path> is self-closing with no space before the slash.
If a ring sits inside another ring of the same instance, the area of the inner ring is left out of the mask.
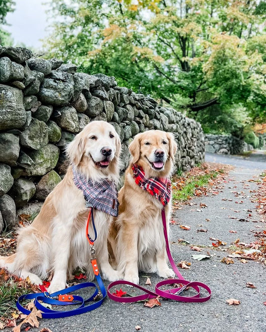
<path id="1" fill-rule="evenodd" d="M 129 151 L 132 163 L 142 166 L 148 176 L 169 176 L 177 144 L 171 133 L 150 130 L 135 136 Z"/>

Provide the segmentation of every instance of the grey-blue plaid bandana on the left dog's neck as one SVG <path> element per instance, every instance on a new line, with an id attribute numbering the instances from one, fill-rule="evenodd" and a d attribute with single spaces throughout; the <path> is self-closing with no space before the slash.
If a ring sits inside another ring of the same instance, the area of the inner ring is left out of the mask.
<path id="1" fill-rule="evenodd" d="M 86 200 L 86 207 L 92 206 L 96 210 L 118 216 L 117 189 L 114 181 L 106 178 L 99 182 L 93 182 L 91 178 L 87 179 L 84 175 L 76 172 L 74 167 L 73 181 L 78 189 L 83 191 Z"/>

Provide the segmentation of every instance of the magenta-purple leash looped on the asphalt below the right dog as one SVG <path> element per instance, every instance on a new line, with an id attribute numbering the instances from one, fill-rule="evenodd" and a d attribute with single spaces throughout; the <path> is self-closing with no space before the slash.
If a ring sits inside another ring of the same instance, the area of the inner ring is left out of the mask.
<path id="1" fill-rule="evenodd" d="M 123 302 L 123 303 L 132 303 L 132 302 L 137 302 L 137 301 L 144 301 L 152 298 L 156 298 L 157 296 L 161 296 L 165 299 L 170 299 L 170 300 L 175 300 L 175 301 L 181 301 L 181 302 L 206 302 L 211 298 L 212 291 L 209 286 L 199 282 L 199 281 L 188 281 L 185 280 L 181 273 L 178 271 L 175 262 L 173 260 L 173 257 L 170 252 L 169 248 L 169 242 L 168 242 L 168 236 L 167 236 L 167 228 L 166 228 L 166 218 L 165 218 L 165 211 L 162 209 L 162 220 L 163 220 L 163 226 L 164 226 L 164 237 L 165 237 L 165 243 L 166 243 L 166 252 L 168 259 L 170 261 L 170 264 L 177 275 L 179 279 L 166 279 L 163 281 L 160 281 L 159 283 L 156 284 L 155 286 L 155 292 L 152 292 L 144 287 L 141 287 L 139 285 L 136 285 L 134 283 L 131 283 L 126 280 L 118 280 L 112 282 L 108 287 L 107 287 L 107 294 L 111 300 L 114 300 L 116 302 Z M 161 290 L 160 287 L 165 286 L 165 285 L 173 285 L 173 284 L 182 284 L 182 287 L 176 287 L 176 288 L 171 288 L 168 290 Z M 134 286 L 135 288 L 140 289 L 141 291 L 144 292 L 142 295 L 137 295 L 133 297 L 117 297 L 113 295 L 110 292 L 110 289 L 114 286 L 117 285 L 129 285 L 129 286 Z M 196 294 L 193 296 L 181 296 L 180 294 L 183 293 L 188 287 L 193 288 L 196 291 Z M 201 290 L 200 288 L 205 289 L 208 292 L 207 296 L 202 296 L 201 297 Z"/>

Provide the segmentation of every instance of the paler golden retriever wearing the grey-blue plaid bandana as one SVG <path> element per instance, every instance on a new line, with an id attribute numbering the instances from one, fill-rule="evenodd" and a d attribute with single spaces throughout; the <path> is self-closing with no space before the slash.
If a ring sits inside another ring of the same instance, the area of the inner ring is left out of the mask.
<path id="1" fill-rule="evenodd" d="M 29 277 L 35 284 L 41 284 L 41 279 L 51 272 L 50 293 L 64 289 L 67 277 L 76 267 L 85 268 L 93 279 L 85 234 L 89 209 L 85 207 L 83 192 L 73 182 L 72 165 L 93 181 L 107 178 L 117 184 L 120 150 L 120 139 L 107 122 L 91 122 L 76 135 L 66 150 L 71 164 L 63 180 L 46 197 L 33 222 L 20 229 L 16 253 L 0 257 L 0 267 L 21 278 Z M 108 262 L 107 235 L 112 218 L 94 210 L 96 257 L 103 278 L 109 281 L 120 277 Z"/>

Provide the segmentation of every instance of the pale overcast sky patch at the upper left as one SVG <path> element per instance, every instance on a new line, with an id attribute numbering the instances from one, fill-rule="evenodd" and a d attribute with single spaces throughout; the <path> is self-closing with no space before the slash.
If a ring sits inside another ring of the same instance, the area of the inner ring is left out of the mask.
<path id="1" fill-rule="evenodd" d="M 40 49 L 40 39 L 48 35 L 45 31 L 48 27 L 45 10 L 49 7 L 43 4 L 47 0 L 15 0 L 15 11 L 6 16 L 5 30 L 11 32 L 14 44 L 24 43 L 27 47 Z"/>

